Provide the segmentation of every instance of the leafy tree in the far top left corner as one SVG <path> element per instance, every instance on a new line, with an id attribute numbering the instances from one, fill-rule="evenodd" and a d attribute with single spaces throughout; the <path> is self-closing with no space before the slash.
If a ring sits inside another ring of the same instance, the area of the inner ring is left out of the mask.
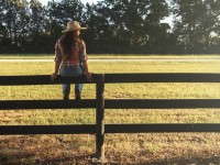
<path id="1" fill-rule="evenodd" d="M 29 9 L 26 0 L 2 1 L 1 30 L 4 33 L 4 42 L 14 46 L 22 46 L 28 35 Z"/>

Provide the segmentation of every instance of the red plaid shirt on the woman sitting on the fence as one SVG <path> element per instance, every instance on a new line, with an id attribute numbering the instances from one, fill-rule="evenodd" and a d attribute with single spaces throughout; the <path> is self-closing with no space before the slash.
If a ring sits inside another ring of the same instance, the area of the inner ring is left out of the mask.
<path id="1" fill-rule="evenodd" d="M 55 44 L 55 62 L 61 62 L 63 65 L 72 66 L 79 65 L 82 61 L 87 61 L 86 44 L 82 40 L 77 38 L 76 44 L 73 46 L 73 53 L 69 59 L 64 54 L 61 40 Z"/>

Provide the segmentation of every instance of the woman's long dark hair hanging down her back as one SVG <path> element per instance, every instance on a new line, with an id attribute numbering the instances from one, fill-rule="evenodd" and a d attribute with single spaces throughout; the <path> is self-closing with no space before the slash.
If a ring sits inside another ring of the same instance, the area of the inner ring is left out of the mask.
<path id="1" fill-rule="evenodd" d="M 66 34 L 64 34 L 61 37 L 61 44 L 66 58 L 69 59 L 73 53 L 72 48 L 76 44 L 76 36 L 74 32 L 67 32 Z"/>

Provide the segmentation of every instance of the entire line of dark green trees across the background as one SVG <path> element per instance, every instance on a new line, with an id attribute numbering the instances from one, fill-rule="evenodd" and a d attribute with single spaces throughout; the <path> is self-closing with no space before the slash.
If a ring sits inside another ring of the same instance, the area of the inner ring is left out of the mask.
<path id="1" fill-rule="evenodd" d="M 53 53 L 75 20 L 88 28 L 88 53 L 219 54 L 219 0 L 0 0 L 0 53 Z"/>

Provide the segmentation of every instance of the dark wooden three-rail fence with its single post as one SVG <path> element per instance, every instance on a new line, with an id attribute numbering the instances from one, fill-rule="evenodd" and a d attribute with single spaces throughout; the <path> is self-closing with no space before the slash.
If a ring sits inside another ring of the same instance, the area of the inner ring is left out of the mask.
<path id="1" fill-rule="evenodd" d="M 220 123 L 105 124 L 105 109 L 195 109 L 220 108 L 220 99 L 105 99 L 105 84 L 127 82 L 220 82 L 220 74 L 94 74 L 88 82 L 78 78 L 50 75 L 0 76 L 0 86 L 58 85 L 64 82 L 96 84 L 96 99 L 1 100 L 0 110 L 96 108 L 96 124 L 72 125 L 0 125 L 0 135 L 12 134 L 96 134 L 96 156 L 105 158 L 106 133 L 147 132 L 220 132 Z"/>

